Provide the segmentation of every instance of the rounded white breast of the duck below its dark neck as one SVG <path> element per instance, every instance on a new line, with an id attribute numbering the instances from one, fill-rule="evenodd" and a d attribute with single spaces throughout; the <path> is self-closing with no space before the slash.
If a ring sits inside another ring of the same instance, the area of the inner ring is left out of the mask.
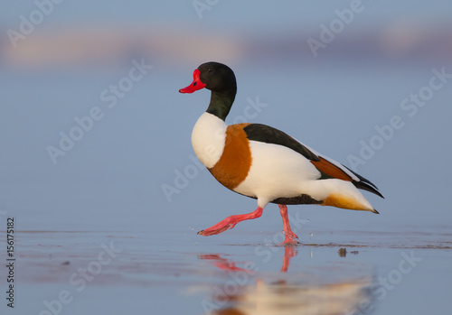
<path id="1" fill-rule="evenodd" d="M 219 117 L 204 113 L 193 127 L 192 145 L 198 159 L 212 168 L 221 158 L 226 140 L 226 124 Z"/>

